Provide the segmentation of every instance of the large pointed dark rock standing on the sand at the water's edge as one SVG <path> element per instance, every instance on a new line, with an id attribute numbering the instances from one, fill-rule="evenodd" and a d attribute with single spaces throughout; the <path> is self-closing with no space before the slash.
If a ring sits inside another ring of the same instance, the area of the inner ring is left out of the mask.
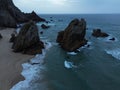
<path id="1" fill-rule="evenodd" d="M 38 28 L 34 22 L 26 23 L 13 42 L 13 51 L 35 55 L 42 53 L 44 44 L 39 39 Z"/>

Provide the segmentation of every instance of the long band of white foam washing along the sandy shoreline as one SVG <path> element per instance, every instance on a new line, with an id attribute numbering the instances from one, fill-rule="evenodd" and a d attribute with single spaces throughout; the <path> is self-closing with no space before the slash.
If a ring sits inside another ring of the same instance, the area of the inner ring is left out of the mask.
<path id="1" fill-rule="evenodd" d="M 25 80 L 20 81 L 10 90 L 34 90 L 33 83 L 35 84 L 35 80 L 38 78 L 42 78 L 42 75 L 40 76 L 38 72 L 40 73 L 40 71 L 45 70 L 43 59 L 45 57 L 46 51 L 50 47 L 52 47 L 51 43 L 45 42 L 45 49 L 42 50 L 42 54 L 37 54 L 33 59 L 30 60 L 30 62 L 22 64 L 23 71 L 21 74 L 24 76 Z"/>

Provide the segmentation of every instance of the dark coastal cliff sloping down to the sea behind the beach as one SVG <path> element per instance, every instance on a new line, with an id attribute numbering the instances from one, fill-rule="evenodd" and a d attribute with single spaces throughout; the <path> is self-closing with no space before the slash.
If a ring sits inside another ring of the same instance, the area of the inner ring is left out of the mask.
<path id="1" fill-rule="evenodd" d="M 35 12 L 29 14 L 21 12 L 12 0 L 0 0 L 0 27 L 17 27 L 17 24 L 30 20 L 45 21 Z"/>

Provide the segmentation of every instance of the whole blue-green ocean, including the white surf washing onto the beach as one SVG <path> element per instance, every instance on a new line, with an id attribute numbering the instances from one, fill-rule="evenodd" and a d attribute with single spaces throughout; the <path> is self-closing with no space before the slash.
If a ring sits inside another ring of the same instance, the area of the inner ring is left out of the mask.
<path id="1" fill-rule="evenodd" d="M 22 64 L 24 81 L 11 90 L 120 90 L 120 14 L 47 14 L 40 15 L 50 21 L 43 30 L 37 23 L 40 39 L 45 42 L 43 54 Z M 87 22 L 86 39 L 90 47 L 79 52 L 66 52 L 56 38 L 71 20 L 84 18 Z M 92 37 L 100 28 L 110 36 Z M 109 39 L 114 37 L 115 41 Z M 37 62 L 39 64 L 31 64 Z"/>

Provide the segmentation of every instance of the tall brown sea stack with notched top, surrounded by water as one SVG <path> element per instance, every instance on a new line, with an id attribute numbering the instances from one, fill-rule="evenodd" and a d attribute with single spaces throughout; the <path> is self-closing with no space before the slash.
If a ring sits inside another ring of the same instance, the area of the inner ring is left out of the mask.
<path id="1" fill-rule="evenodd" d="M 68 27 L 58 33 L 57 42 L 67 51 L 75 51 L 87 43 L 85 39 L 86 21 L 74 19 Z"/>

